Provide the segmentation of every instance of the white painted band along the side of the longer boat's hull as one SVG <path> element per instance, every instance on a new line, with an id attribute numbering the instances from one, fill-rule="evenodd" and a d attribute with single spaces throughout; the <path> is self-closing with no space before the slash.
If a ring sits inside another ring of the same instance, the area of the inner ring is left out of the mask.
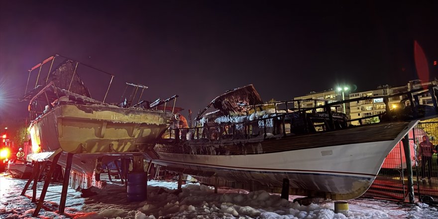
<path id="1" fill-rule="evenodd" d="M 317 173 L 366 177 L 375 176 L 392 148 L 393 141 L 337 145 L 324 148 L 254 155 L 187 155 L 158 153 L 159 160 L 178 166 L 255 172 Z"/>

